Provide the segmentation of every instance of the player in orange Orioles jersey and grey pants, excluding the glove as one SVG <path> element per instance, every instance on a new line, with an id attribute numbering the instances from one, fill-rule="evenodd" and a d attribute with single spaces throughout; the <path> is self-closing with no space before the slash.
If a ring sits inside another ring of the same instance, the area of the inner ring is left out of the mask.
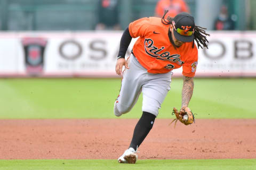
<path id="1" fill-rule="evenodd" d="M 129 112 L 143 94 L 142 116 L 135 126 L 131 144 L 118 158 L 119 163 L 134 164 L 138 147 L 153 128 L 158 109 L 170 90 L 172 70 L 182 66 L 182 107 L 188 107 L 193 94 L 197 66 L 197 46 L 207 47 L 202 27 L 194 23 L 188 13 L 179 13 L 174 18 L 142 18 L 131 22 L 124 31 L 116 62 L 116 73 L 122 75 L 119 95 L 114 104 L 114 114 L 121 116 Z M 132 38 L 135 42 L 130 57 L 125 53 Z M 122 68 L 125 70 L 122 73 Z"/>

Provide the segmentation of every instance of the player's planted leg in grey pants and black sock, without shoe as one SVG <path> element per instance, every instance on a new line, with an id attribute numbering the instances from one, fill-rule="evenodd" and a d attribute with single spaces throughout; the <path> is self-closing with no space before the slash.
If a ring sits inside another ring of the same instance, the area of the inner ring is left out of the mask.
<path id="1" fill-rule="evenodd" d="M 143 114 L 135 126 L 130 148 L 136 150 L 153 128 L 158 109 L 170 90 L 171 74 L 149 74 L 148 82 L 142 86 Z"/>

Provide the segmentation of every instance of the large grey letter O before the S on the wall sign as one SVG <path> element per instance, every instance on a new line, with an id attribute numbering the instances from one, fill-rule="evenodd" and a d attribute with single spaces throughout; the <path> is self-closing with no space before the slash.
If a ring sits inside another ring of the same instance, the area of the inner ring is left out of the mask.
<path id="1" fill-rule="evenodd" d="M 82 46 L 75 40 L 67 40 L 60 44 L 59 53 L 66 60 L 75 60 L 81 56 Z"/>

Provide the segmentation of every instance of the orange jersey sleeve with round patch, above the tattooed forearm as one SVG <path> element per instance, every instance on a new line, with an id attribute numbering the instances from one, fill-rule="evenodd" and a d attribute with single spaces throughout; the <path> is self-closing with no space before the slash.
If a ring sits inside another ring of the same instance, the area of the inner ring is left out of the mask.
<path id="1" fill-rule="evenodd" d="M 182 66 L 182 74 L 187 77 L 194 77 L 196 74 L 198 52 L 196 46 L 192 49 L 191 53 L 187 53 L 190 54 L 190 56 L 188 56 L 189 59 Z"/>

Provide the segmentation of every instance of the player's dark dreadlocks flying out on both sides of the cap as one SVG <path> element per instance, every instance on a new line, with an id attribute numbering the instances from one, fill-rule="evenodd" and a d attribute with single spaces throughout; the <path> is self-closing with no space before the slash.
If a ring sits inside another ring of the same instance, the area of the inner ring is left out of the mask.
<path id="1" fill-rule="evenodd" d="M 165 25 L 172 24 L 172 20 L 173 20 L 173 18 L 171 18 L 170 16 L 167 16 L 167 20 L 164 18 L 167 12 L 168 11 L 165 10 L 164 16 L 162 17 L 162 23 Z M 207 40 L 206 36 L 210 36 L 210 34 L 206 33 L 205 30 L 206 28 L 195 25 L 194 40 L 196 40 L 198 48 L 201 47 L 203 49 L 201 45 L 208 48 L 206 42 L 209 43 L 209 41 Z M 195 45 L 195 41 L 193 41 L 193 48 L 194 48 L 194 45 Z"/>

